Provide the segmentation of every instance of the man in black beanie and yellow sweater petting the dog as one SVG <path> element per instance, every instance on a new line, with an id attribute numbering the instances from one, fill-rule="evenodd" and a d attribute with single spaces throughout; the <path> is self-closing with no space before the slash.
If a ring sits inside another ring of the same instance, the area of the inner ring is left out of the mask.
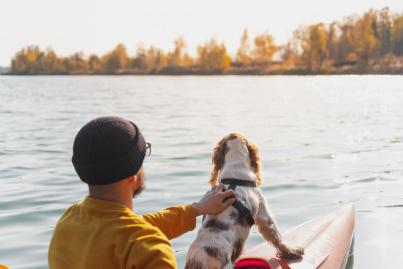
<path id="1" fill-rule="evenodd" d="M 213 186 L 199 202 L 135 215 L 133 197 L 145 189 L 143 160 L 151 144 L 138 127 L 118 117 L 87 123 L 77 134 L 72 162 L 89 195 L 57 223 L 49 246 L 53 268 L 176 268 L 170 239 L 195 228 L 196 217 L 215 215 L 235 196 Z"/>

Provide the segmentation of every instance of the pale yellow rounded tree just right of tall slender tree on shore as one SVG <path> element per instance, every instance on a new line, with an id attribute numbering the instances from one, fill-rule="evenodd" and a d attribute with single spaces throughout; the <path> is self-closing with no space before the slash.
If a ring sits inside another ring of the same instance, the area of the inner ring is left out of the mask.
<path id="1" fill-rule="evenodd" d="M 278 47 L 274 45 L 274 38 L 264 32 L 255 37 L 255 50 L 253 51 L 254 62 L 259 65 L 268 65 L 273 59 L 273 55 L 277 52 Z"/>

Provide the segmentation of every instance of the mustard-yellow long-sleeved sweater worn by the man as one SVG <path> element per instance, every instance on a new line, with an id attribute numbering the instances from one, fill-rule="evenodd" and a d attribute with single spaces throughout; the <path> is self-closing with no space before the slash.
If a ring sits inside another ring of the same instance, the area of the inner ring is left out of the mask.
<path id="1" fill-rule="evenodd" d="M 192 205 L 137 216 L 87 196 L 63 214 L 49 246 L 49 268 L 176 268 L 170 239 L 196 226 Z"/>

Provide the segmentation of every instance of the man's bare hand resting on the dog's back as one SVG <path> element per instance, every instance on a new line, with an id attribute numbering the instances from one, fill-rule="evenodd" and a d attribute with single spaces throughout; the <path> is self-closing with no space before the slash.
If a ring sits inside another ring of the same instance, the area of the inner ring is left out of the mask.
<path id="1" fill-rule="evenodd" d="M 235 202 L 235 198 L 229 198 L 225 202 L 224 199 L 228 196 L 235 197 L 235 192 L 231 189 L 227 191 L 222 183 L 218 186 L 214 185 L 211 191 L 207 191 L 199 202 L 193 203 L 193 207 L 196 211 L 196 216 L 209 214 L 217 215 L 224 211 L 227 207 Z"/>

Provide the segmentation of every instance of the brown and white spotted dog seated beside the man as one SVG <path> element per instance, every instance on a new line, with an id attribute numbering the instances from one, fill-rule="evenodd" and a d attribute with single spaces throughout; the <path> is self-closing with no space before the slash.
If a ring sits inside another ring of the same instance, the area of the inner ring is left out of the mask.
<path id="1" fill-rule="evenodd" d="M 283 241 L 266 199 L 257 187 L 262 182 L 258 148 L 244 136 L 231 133 L 217 143 L 212 163 L 210 184 L 221 183 L 223 179 L 227 188 L 231 184 L 236 194 L 235 203 L 242 204 L 249 213 L 241 214 L 231 206 L 218 215 L 205 215 L 196 240 L 189 247 L 185 268 L 233 268 L 253 221 L 264 239 L 277 249 L 279 257 L 301 258 L 303 248 L 290 247 Z"/>

